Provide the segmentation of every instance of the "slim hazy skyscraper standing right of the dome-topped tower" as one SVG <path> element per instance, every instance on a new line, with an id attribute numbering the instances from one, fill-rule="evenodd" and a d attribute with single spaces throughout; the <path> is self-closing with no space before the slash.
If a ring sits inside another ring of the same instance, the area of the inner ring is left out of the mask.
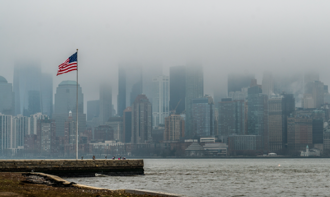
<path id="1" fill-rule="evenodd" d="M 112 117 L 112 87 L 100 85 L 100 123 L 105 124 Z"/>

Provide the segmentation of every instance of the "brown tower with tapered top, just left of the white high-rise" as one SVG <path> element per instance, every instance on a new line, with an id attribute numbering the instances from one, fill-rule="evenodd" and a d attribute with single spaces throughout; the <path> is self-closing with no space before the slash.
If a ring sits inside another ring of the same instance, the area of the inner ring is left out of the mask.
<path id="1" fill-rule="evenodd" d="M 151 103 L 145 95 L 138 95 L 132 104 L 132 137 L 131 143 L 152 141 Z"/>

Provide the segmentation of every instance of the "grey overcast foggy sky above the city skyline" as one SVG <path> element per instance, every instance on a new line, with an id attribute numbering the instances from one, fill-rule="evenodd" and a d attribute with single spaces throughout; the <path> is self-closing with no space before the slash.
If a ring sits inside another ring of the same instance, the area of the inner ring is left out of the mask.
<path id="1" fill-rule="evenodd" d="M 3 1 L 0 0 L 0 75 L 13 82 L 17 59 L 41 63 L 62 80 L 58 65 L 79 49 L 84 102 L 99 99 L 99 83 L 113 86 L 118 63 L 199 59 L 204 93 L 227 90 L 230 72 L 320 71 L 330 85 L 330 1 Z M 86 112 L 86 111 L 84 111 Z"/>

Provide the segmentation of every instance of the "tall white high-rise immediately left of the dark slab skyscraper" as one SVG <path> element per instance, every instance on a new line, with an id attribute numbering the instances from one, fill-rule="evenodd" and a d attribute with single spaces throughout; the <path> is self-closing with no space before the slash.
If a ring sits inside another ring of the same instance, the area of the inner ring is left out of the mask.
<path id="1" fill-rule="evenodd" d="M 175 106 L 173 106 L 175 107 Z M 169 76 L 152 77 L 152 126 L 165 124 L 169 116 Z"/>

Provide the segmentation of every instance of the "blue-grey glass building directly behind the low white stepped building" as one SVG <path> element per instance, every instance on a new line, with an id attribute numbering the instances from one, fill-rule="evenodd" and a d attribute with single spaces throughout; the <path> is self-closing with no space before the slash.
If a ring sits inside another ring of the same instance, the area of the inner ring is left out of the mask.
<path id="1" fill-rule="evenodd" d="M 214 135 L 214 103 L 209 95 L 191 99 L 192 136 Z"/>

